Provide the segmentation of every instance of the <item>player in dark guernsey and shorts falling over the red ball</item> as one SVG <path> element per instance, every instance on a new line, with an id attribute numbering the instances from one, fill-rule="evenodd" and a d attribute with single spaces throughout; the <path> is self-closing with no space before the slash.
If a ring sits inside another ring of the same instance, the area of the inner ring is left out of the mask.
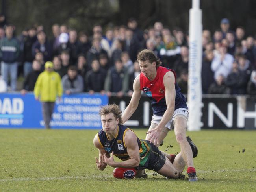
<path id="1" fill-rule="evenodd" d="M 118 105 L 106 105 L 102 107 L 99 114 L 102 130 L 93 139 L 95 147 L 99 150 L 99 159 L 96 158 L 99 170 L 104 170 L 109 165 L 118 168 L 135 168 L 136 171 L 131 169 L 134 171 L 135 177 L 141 177 L 144 174 L 144 169 L 154 170 L 168 178 L 180 176 L 186 165 L 182 155 L 178 154 L 172 164 L 169 160 L 170 155 L 161 152 L 149 141 L 137 138 L 134 131 L 122 125 L 122 112 Z M 115 162 L 114 155 L 122 162 Z M 122 170 L 115 170 L 119 171 L 119 176 L 117 173 L 115 174 L 115 171 L 114 176 L 122 178 L 120 176 Z M 125 173 L 126 170 L 123 172 Z"/>

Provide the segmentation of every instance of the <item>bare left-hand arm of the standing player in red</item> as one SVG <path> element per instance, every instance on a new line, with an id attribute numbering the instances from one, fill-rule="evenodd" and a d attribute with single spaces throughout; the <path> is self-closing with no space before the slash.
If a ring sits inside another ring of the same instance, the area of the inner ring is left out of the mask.
<path id="1" fill-rule="evenodd" d="M 132 94 L 131 101 L 129 105 L 124 110 L 124 113 L 122 115 L 122 122 L 125 123 L 131 116 L 134 114 L 134 111 L 137 109 L 139 105 L 139 100 L 141 98 L 141 83 L 139 81 L 139 76 L 137 76 L 134 79 L 134 92 Z"/>

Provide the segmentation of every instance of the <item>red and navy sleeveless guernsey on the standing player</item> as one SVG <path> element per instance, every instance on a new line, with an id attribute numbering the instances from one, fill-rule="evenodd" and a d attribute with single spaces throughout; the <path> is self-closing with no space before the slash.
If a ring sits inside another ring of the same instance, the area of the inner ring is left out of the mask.
<path id="1" fill-rule="evenodd" d="M 157 68 L 156 77 L 153 81 L 149 81 L 147 77 L 144 76 L 143 73 L 140 74 L 139 80 L 141 83 L 141 90 L 145 92 L 145 94 L 151 100 L 151 106 L 153 109 L 153 113 L 158 116 L 163 116 L 165 113 L 167 106 L 165 101 L 165 86 L 163 84 L 163 76 L 168 72 L 173 72 L 175 76 L 175 109 L 178 108 L 186 108 L 187 103 L 184 95 L 180 92 L 180 87 L 176 83 L 176 73 L 174 70 L 171 70 L 166 67 L 158 67 Z"/>

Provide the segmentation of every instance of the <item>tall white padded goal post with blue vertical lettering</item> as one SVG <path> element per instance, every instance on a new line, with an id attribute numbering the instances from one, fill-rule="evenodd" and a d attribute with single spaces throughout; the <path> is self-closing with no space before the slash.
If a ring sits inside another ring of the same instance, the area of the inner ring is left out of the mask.
<path id="1" fill-rule="evenodd" d="M 202 127 L 202 10 L 199 7 L 200 0 L 192 0 L 189 10 L 188 131 L 199 131 Z"/>

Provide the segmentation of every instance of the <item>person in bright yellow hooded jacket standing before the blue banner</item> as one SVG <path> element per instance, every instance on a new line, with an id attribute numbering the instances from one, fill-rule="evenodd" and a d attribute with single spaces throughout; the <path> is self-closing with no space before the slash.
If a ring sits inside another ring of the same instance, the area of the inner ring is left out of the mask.
<path id="1" fill-rule="evenodd" d="M 45 128 L 50 129 L 50 120 L 54 110 L 56 98 L 60 100 L 63 93 L 61 77 L 53 70 L 53 63 L 45 63 L 45 71 L 42 72 L 35 82 L 35 99 L 42 103 L 42 113 L 45 122 Z"/>

